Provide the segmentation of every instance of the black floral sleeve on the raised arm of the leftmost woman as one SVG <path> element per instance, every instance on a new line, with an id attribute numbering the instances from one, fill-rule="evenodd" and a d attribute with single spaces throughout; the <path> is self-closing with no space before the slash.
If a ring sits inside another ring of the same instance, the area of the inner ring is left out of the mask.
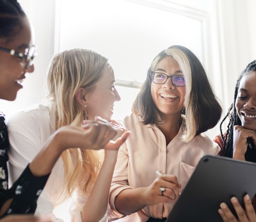
<path id="1" fill-rule="evenodd" d="M 6 191 L 5 200 L 13 199 L 13 201 L 4 216 L 33 214 L 36 210 L 38 196 L 44 189 L 49 175 L 35 177 L 28 165 L 13 186 Z"/>

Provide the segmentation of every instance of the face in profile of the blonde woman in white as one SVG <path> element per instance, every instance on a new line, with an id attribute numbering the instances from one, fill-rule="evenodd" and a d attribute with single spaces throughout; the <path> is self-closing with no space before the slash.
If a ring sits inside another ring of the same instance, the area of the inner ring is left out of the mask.
<path id="1" fill-rule="evenodd" d="M 94 85 L 92 92 L 86 95 L 86 100 L 90 119 L 100 116 L 111 120 L 114 103 L 120 101 L 120 96 L 115 88 L 114 71 L 108 63 L 104 66 L 102 77 Z"/>

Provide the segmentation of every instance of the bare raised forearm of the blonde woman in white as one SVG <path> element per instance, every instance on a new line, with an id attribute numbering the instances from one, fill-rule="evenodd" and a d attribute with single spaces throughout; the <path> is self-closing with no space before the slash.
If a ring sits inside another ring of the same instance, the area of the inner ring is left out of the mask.
<path id="1" fill-rule="evenodd" d="M 117 151 L 108 151 L 99 171 L 99 175 L 87 202 L 83 205 L 82 221 L 98 221 L 106 212 L 109 203 L 109 191 L 116 164 Z"/>

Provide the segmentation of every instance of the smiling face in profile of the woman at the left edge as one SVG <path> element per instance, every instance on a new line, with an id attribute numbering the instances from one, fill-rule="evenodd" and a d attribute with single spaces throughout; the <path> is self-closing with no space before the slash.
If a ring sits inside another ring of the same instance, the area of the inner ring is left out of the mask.
<path id="1" fill-rule="evenodd" d="M 26 16 L 22 18 L 22 29 L 10 41 L 0 39 L 0 46 L 25 53 L 26 48 L 31 45 L 31 29 Z M 25 79 L 26 72 L 33 72 L 34 66 L 25 70 L 26 62 L 24 59 L 12 56 L 6 52 L 0 51 L 0 98 L 13 101 L 16 98 L 17 91 L 22 86 L 22 80 Z"/>

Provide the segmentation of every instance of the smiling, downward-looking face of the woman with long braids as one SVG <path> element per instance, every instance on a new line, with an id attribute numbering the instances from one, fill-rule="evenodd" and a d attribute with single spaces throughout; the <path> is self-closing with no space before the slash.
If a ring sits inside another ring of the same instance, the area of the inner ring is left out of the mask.
<path id="1" fill-rule="evenodd" d="M 242 126 L 256 130 L 256 71 L 246 73 L 241 79 L 236 99 L 236 110 Z"/>

